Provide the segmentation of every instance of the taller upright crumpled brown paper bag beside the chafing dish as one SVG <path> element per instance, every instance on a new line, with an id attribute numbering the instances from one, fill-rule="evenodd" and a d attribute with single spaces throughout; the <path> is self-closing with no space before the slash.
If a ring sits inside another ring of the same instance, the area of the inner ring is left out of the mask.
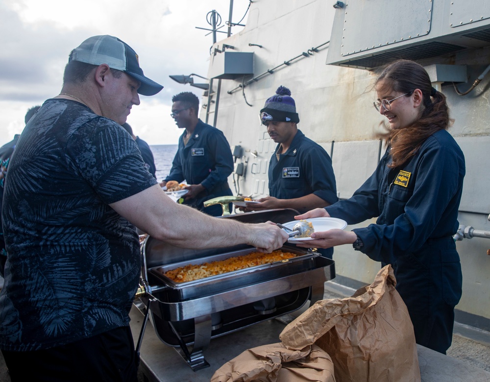
<path id="1" fill-rule="evenodd" d="M 391 265 L 352 297 L 318 301 L 279 335 L 290 349 L 316 344 L 337 382 L 420 381 L 417 345 Z"/>

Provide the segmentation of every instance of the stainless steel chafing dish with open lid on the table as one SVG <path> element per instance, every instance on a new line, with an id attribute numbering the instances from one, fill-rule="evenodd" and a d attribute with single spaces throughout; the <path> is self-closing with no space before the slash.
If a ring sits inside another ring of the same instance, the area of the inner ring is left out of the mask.
<path id="1" fill-rule="evenodd" d="M 285 223 L 297 214 L 285 209 L 221 218 Z M 146 314 L 145 322 L 150 314 L 158 337 L 174 347 L 193 370 L 209 366 L 203 352 L 211 338 L 293 312 L 308 301 L 312 305 L 323 297 L 324 282 L 335 277 L 332 260 L 294 244 L 283 247 L 298 255 L 288 261 L 186 283 L 174 283 L 164 275 L 167 270 L 189 263 L 209 263 L 255 250 L 248 245 L 206 250 L 177 248 L 149 236 L 142 243 L 142 283 L 135 305 Z"/>

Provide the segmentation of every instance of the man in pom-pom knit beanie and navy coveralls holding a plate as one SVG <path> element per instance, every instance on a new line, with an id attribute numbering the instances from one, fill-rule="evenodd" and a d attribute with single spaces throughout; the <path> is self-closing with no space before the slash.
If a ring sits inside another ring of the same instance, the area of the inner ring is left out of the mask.
<path id="1" fill-rule="evenodd" d="M 332 160 L 323 147 L 298 130 L 299 116 L 290 95 L 289 89 L 279 87 L 261 110 L 262 123 L 277 143 L 269 165 L 270 196 L 242 211 L 293 208 L 303 213 L 338 200 Z M 331 259 L 333 248 L 318 252 Z"/>

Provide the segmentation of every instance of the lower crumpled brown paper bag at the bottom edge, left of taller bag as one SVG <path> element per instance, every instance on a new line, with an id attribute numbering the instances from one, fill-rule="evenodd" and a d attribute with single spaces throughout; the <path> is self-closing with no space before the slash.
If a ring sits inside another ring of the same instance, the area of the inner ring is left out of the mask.
<path id="1" fill-rule="evenodd" d="M 318 346 L 290 350 L 281 343 L 246 350 L 221 366 L 211 382 L 335 382 L 332 360 Z"/>

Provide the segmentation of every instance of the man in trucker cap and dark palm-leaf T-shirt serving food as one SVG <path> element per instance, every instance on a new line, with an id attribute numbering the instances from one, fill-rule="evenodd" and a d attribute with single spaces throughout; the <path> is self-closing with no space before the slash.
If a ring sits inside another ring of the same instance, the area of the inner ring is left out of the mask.
<path id="1" fill-rule="evenodd" d="M 129 310 L 141 272 L 136 227 L 175 246 L 240 243 L 270 252 L 287 235 L 172 201 L 121 127 L 139 94 L 162 89 L 136 52 L 94 36 L 70 53 L 8 167 L 0 349 L 12 382 L 137 381 Z"/>

